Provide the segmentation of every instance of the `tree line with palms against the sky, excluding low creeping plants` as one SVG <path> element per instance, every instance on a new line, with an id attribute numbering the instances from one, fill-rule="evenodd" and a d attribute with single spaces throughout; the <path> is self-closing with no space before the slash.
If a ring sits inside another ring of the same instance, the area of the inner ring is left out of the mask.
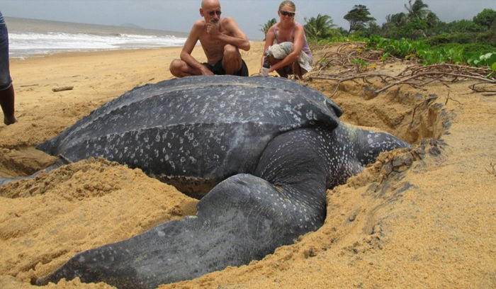
<path id="1" fill-rule="evenodd" d="M 389 14 L 382 26 L 376 23 L 365 5 L 355 5 L 343 18 L 349 22 L 347 29 L 338 28 L 328 15 L 305 17 L 305 34 L 311 40 L 378 35 L 393 40 L 425 40 L 429 45 L 456 42 L 496 47 L 496 11 L 490 8 L 485 8 L 472 20 L 445 23 L 422 0 L 409 0 L 404 12 Z M 264 35 L 275 23 L 276 18 L 272 18 L 262 26 Z"/>

